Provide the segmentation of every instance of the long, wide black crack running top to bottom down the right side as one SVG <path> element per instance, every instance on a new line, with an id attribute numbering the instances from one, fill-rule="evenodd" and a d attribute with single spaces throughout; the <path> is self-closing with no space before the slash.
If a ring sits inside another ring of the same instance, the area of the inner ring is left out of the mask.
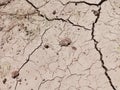
<path id="1" fill-rule="evenodd" d="M 105 1 L 105 0 L 104 0 L 104 1 Z M 101 2 L 100 5 L 101 5 L 102 3 L 103 3 L 103 2 Z M 105 76 L 107 77 L 107 79 L 108 79 L 108 81 L 109 81 L 110 86 L 112 87 L 112 89 L 113 89 L 113 90 L 116 90 L 116 88 L 115 88 L 115 86 L 113 85 L 112 80 L 111 80 L 111 78 L 110 78 L 110 76 L 109 76 L 109 74 L 108 74 L 108 69 L 107 69 L 107 67 L 105 66 L 105 63 L 104 63 L 104 60 L 103 60 L 103 54 L 102 54 L 101 50 L 98 48 L 98 41 L 95 39 L 95 35 L 94 35 L 94 33 L 95 33 L 95 24 L 97 23 L 97 21 L 98 21 L 98 19 L 99 19 L 99 17 L 100 17 L 101 7 L 99 8 L 98 11 L 99 11 L 99 14 L 98 14 L 95 22 L 92 24 L 92 32 L 91 32 L 92 38 L 91 38 L 91 39 L 94 41 L 94 47 L 95 47 L 96 51 L 99 53 L 99 55 L 100 55 L 100 61 L 101 61 L 101 64 L 102 64 L 102 68 L 105 70 Z"/>

